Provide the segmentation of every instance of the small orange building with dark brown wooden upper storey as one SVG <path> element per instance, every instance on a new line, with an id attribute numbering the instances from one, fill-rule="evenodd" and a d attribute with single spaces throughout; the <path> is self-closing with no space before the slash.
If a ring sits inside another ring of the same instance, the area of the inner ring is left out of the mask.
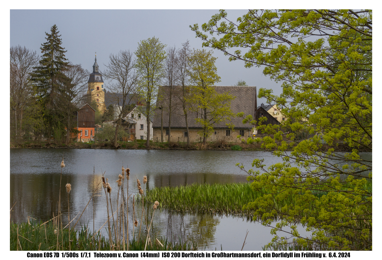
<path id="1" fill-rule="evenodd" d="M 77 111 L 77 128 L 79 133 L 77 135 L 77 142 L 89 142 L 94 138 L 95 131 L 95 110 L 85 104 Z"/>

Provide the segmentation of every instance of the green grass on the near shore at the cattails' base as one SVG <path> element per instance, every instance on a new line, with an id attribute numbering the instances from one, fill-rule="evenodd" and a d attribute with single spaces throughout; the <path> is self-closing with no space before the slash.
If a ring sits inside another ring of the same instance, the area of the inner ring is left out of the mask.
<path id="1" fill-rule="evenodd" d="M 53 221 L 45 223 L 37 221 L 29 221 L 26 223 L 11 223 L 10 224 L 10 250 L 23 250 L 23 251 L 37 251 L 37 250 L 56 250 L 56 237 L 54 233 Z M 17 233 L 19 239 L 17 239 Z M 91 233 L 86 226 L 81 230 L 74 230 L 70 233 L 70 247 L 71 250 L 110 250 L 110 242 L 107 236 L 100 233 Z M 63 229 L 63 249 L 69 250 L 69 231 L 67 228 Z M 168 242 L 167 239 L 160 238 L 157 242 L 156 239 L 151 244 L 147 245 L 146 250 L 179 250 L 190 251 L 197 250 L 195 243 L 187 242 Z M 135 240 L 134 238 L 129 241 L 129 250 L 144 250 L 145 240 Z M 127 245 L 126 245 L 127 246 Z M 59 248 L 62 248 L 60 241 Z M 115 247 L 117 250 L 117 247 Z"/>

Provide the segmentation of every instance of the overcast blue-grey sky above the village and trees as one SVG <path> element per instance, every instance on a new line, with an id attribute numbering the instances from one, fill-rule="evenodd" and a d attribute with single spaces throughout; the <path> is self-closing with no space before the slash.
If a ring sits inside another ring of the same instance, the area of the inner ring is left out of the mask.
<path id="1" fill-rule="evenodd" d="M 189 25 L 201 26 L 219 10 L 10 10 L 10 45 L 21 45 L 40 53 L 45 32 L 56 24 L 67 50 L 66 58 L 92 70 L 94 53 L 100 70 L 108 63 L 110 53 L 120 50 L 134 52 L 140 40 L 157 37 L 168 46 L 181 47 L 188 39 L 191 48 L 202 48 Z M 227 10 L 236 21 L 248 10 Z M 209 48 L 207 48 L 209 50 Z M 231 86 L 239 79 L 249 86 L 272 88 L 281 93 L 280 83 L 262 75 L 262 69 L 244 68 L 243 61 L 228 61 L 228 56 L 215 50 L 217 73 L 222 78 L 216 85 Z M 107 82 L 105 82 L 107 88 Z M 258 104 L 265 103 L 257 99 Z"/>

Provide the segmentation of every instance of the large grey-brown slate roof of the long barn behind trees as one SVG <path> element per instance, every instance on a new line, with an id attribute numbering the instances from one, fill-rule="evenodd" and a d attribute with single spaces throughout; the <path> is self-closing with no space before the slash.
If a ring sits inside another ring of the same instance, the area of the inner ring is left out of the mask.
<path id="1" fill-rule="evenodd" d="M 179 87 L 180 88 L 180 87 Z M 168 86 L 160 87 L 159 91 L 163 91 L 163 93 L 168 93 Z M 244 112 L 244 116 L 252 115 L 254 117 L 254 113 L 257 107 L 257 99 L 256 99 L 256 87 L 255 86 L 215 86 L 215 90 L 218 93 L 230 92 L 231 95 L 236 98 L 231 101 L 231 110 L 233 113 Z M 163 105 L 163 127 L 168 128 L 168 99 L 166 95 L 165 98 L 159 104 L 159 107 Z M 171 115 L 171 127 L 172 128 L 185 128 L 186 121 L 183 115 L 183 108 L 179 103 L 179 99 L 174 97 L 172 101 L 174 105 L 173 112 Z M 167 109 L 166 109 L 167 107 Z M 196 112 L 188 111 L 188 127 L 189 128 L 200 128 L 200 124 L 196 123 Z M 198 113 L 200 117 L 200 112 Z M 154 121 L 152 124 L 153 128 L 160 128 L 160 119 L 161 119 L 161 110 L 157 109 L 156 115 L 154 116 Z M 242 118 L 233 118 L 231 119 L 231 123 L 235 125 L 235 128 L 250 128 L 249 124 L 243 124 Z M 227 122 L 230 123 L 230 122 Z M 215 128 L 227 128 L 225 123 L 220 123 L 219 125 L 215 125 Z"/>

